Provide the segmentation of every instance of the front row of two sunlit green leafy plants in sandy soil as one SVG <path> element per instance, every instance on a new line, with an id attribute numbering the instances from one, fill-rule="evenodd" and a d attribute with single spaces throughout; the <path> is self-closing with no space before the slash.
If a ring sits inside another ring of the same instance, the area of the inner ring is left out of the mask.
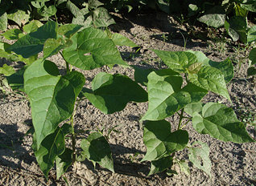
<path id="1" fill-rule="evenodd" d="M 149 176 L 165 170 L 173 174 L 173 164 L 179 164 L 182 171 L 189 173 L 188 163 L 175 157 L 175 152 L 185 148 L 192 164 L 210 175 L 208 145 L 200 141 L 188 143 L 189 134 L 184 127 L 190 121 L 200 134 L 225 142 L 254 142 L 232 108 L 222 103 L 201 102 L 209 91 L 231 102 L 226 87 L 233 78 L 230 59 L 217 63 L 200 51 L 152 50 L 167 68 L 145 71 L 134 67 L 134 80 L 126 75 L 100 72 L 88 88 L 85 76 L 72 67 L 84 71 L 114 65 L 133 68 L 122 59 L 117 46 L 136 44 L 108 30 L 77 24 L 58 26 L 53 21 L 43 25 L 32 21 L 22 30 L 8 30 L 3 35 L 17 41 L 12 45 L 1 42 L 0 56 L 26 65 L 19 71 L 4 65 L 0 73 L 6 76 L 8 86 L 24 91 L 31 103 L 32 149 L 46 178 L 54 166 L 59 179 L 75 161 L 85 159 L 114 172 L 111 149 L 102 132 L 92 131 L 81 140 L 81 147 L 77 147 L 75 113 L 83 99 L 105 114 L 122 111 L 130 102 L 148 103 L 140 122 L 147 146 L 141 161 L 151 162 Z M 42 51 L 43 56 L 39 58 Z M 58 53 L 66 63 L 64 75 L 60 75 L 55 62 L 48 60 Z M 254 72 L 255 53 L 255 50 L 250 53 Z M 165 120 L 175 114 L 179 115 L 178 127 Z M 72 147 L 68 146 L 68 139 Z"/>

